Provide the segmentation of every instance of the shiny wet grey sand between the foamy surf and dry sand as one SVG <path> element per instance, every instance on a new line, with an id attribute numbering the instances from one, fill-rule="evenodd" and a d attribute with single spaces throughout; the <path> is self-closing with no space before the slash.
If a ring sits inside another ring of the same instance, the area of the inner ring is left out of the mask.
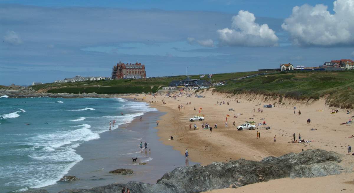
<path id="1" fill-rule="evenodd" d="M 136 101 L 138 102 L 138 101 Z M 141 102 L 141 101 L 139 101 Z M 49 192 L 59 192 L 63 189 L 73 188 L 92 188 L 104 186 L 112 183 L 127 183 L 129 181 L 141 181 L 145 183 L 156 183 L 156 180 L 165 174 L 165 172 L 175 169 L 178 166 L 185 166 L 184 157 L 179 156 L 170 146 L 161 144 L 156 135 L 156 120 L 164 112 L 149 111 L 142 115 L 143 121 L 139 121 L 139 116 L 134 117 L 129 123 L 121 124 L 112 131 L 105 131 L 99 139 L 90 140 L 80 144 L 75 148 L 83 160 L 75 164 L 67 174 L 74 175 L 80 180 L 72 182 L 57 182 L 54 185 L 46 186 L 40 189 L 46 189 Z M 142 135 L 141 138 L 131 138 L 132 133 Z M 115 150 L 122 148 L 121 136 L 127 136 L 131 144 L 137 147 L 136 153 L 127 152 L 129 158 L 122 158 L 116 154 Z M 135 140 L 135 141 L 134 141 Z M 152 152 L 141 151 L 138 148 L 139 142 L 148 142 L 148 148 Z M 130 157 L 141 157 L 137 162 L 132 163 Z M 167 156 L 167 157 L 165 157 Z M 151 160 L 149 160 L 151 159 Z M 139 163 L 147 163 L 139 165 Z M 190 164 L 195 164 L 190 162 Z M 132 175 L 109 174 L 110 170 L 118 168 L 132 169 Z"/>

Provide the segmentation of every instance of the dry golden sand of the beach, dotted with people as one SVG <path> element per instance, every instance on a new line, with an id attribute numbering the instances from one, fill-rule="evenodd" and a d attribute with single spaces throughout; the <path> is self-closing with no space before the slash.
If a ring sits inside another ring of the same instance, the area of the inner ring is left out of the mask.
<path id="1" fill-rule="evenodd" d="M 179 150 L 182 155 L 185 149 L 188 149 L 189 159 L 194 162 L 206 165 L 212 162 L 227 162 L 240 158 L 258 161 L 267 156 L 281 156 L 290 152 L 301 152 L 302 149 L 306 150 L 309 148 L 320 148 L 340 154 L 348 154 L 348 144 L 354 146 L 354 138 L 348 138 L 354 134 L 353 125 L 339 124 L 347 122 L 354 114 L 347 115 L 346 110 L 342 109 L 338 109 L 338 113 L 331 114 L 332 108 L 325 105 L 324 99 L 315 101 L 283 99 L 281 105 L 279 105 L 278 98 L 272 99 L 261 95 L 226 95 L 213 93 L 211 90 L 203 91 L 200 94 L 205 96 L 205 98 L 194 97 L 194 92 L 189 92 L 188 94 L 193 95 L 192 97 L 186 97 L 187 92 L 184 92 L 184 96 L 179 96 L 176 99 L 165 96 L 165 94 L 158 95 L 155 98 L 152 95 L 131 96 L 130 98 L 144 99 L 145 102 L 154 101 L 151 106 L 162 112 L 167 112 L 166 115 L 161 117 L 159 126 L 157 127 L 159 129 L 158 135 L 161 137 L 160 140 L 164 144 L 171 145 L 174 149 Z M 161 102 L 162 99 L 166 104 Z M 239 103 L 236 103 L 236 100 Z M 219 103 L 220 101 L 224 101 L 225 104 L 215 105 L 217 101 Z M 229 105 L 227 105 L 227 102 L 229 102 Z M 275 102 L 276 107 L 263 107 L 265 104 L 274 104 Z M 261 106 L 258 106 L 258 103 L 261 103 Z M 178 105 L 182 105 L 183 107 L 178 110 Z M 295 114 L 293 110 L 294 106 L 296 107 Z M 199 107 L 202 108 L 201 114 L 205 115 L 204 122 L 212 126 L 215 123 L 218 124 L 218 128 L 213 129 L 212 133 L 210 133 L 209 129 L 201 129 L 203 121 L 189 122 L 189 118 L 199 114 Z M 253 108 L 255 108 L 255 112 Z M 263 113 L 257 113 L 258 108 L 263 109 Z M 233 109 L 234 111 L 229 111 L 229 109 Z M 301 110 L 301 115 L 298 115 L 299 110 Z M 242 113 L 242 115 L 238 115 L 239 113 Z M 227 114 L 230 117 L 228 118 L 228 127 L 225 128 Z M 234 116 L 237 118 L 234 118 Z M 261 118 L 264 118 L 264 120 L 261 120 Z M 308 118 L 311 119 L 311 125 L 308 125 L 306 122 Z M 255 130 L 238 131 L 236 127 L 232 126 L 233 121 L 235 121 L 236 126 L 245 123 L 245 121 L 255 121 L 256 123 L 263 123 L 265 121 L 267 125 L 261 125 L 259 129 Z M 194 123 L 199 129 L 193 130 Z M 189 124 L 192 124 L 192 130 L 189 129 Z M 270 126 L 271 129 L 265 130 L 264 126 Z M 317 130 L 311 131 L 310 129 L 312 128 Z M 259 139 L 256 136 L 257 131 L 261 133 Z M 312 142 L 292 143 L 293 133 L 296 134 L 296 139 L 298 139 L 298 134 L 300 133 L 301 139 Z M 171 135 L 174 140 L 168 140 Z M 273 138 L 275 135 L 276 143 L 274 144 Z M 346 156 L 346 159 L 352 162 L 354 156 Z M 348 181 L 354 180 L 353 174 L 348 174 L 348 176 Z M 333 176 L 324 177 L 323 179 L 331 178 L 339 180 Z M 346 177 L 341 178 L 344 179 Z M 290 189 L 295 188 L 287 185 L 287 180 L 290 179 L 274 180 L 263 182 L 262 184 L 269 183 L 272 186 L 272 183 L 278 183 L 278 181 L 279 183 L 284 182 L 279 187 L 288 188 L 286 190 L 289 192 L 291 191 Z M 307 189 L 313 192 L 314 187 L 310 186 L 311 183 L 307 183 L 309 181 L 319 180 L 290 180 L 294 184 L 303 183 L 302 188 L 298 189 L 298 191 Z M 309 187 L 304 187 L 304 184 L 308 184 Z M 252 188 L 253 186 L 258 187 L 258 183 L 242 188 L 245 189 L 245 192 L 248 192 L 252 191 L 252 189 L 246 191 L 246 188 Z M 354 190 L 354 185 L 351 186 Z M 230 191 L 234 191 L 234 189 Z M 281 189 L 278 191 L 282 192 Z M 224 192 L 224 190 L 221 192 Z"/>

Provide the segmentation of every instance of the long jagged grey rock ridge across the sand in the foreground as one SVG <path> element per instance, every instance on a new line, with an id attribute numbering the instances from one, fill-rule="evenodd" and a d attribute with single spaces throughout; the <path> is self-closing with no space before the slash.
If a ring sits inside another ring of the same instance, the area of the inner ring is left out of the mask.
<path id="1" fill-rule="evenodd" d="M 60 193 L 116 193 L 122 187 L 132 193 L 179 193 L 204 192 L 212 189 L 241 187 L 284 177 L 319 177 L 339 174 L 339 155 L 325 150 L 307 150 L 280 157 L 267 157 L 260 162 L 240 159 L 228 163 L 214 162 L 176 168 L 167 172 L 154 185 L 129 182 L 115 183 L 92 189 L 67 189 Z M 35 193 L 27 191 L 26 193 Z"/>

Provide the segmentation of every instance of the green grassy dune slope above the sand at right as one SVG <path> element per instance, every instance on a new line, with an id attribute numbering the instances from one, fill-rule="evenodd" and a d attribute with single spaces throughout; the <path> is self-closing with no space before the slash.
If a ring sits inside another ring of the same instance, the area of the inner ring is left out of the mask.
<path id="1" fill-rule="evenodd" d="M 291 99 L 325 97 L 330 106 L 354 108 L 354 71 L 292 71 L 229 81 L 214 91 L 281 96 Z M 281 98 L 282 100 L 282 98 Z"/>

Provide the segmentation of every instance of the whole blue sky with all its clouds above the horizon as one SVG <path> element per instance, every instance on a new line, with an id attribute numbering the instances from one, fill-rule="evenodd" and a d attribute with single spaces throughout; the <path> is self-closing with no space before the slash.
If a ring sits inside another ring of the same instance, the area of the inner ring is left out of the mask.
<path id="1" fill-rule="evenodd" d="M 354 0 L 0 0 L 0 85 L 318 66 L 354 59 Z"/>

